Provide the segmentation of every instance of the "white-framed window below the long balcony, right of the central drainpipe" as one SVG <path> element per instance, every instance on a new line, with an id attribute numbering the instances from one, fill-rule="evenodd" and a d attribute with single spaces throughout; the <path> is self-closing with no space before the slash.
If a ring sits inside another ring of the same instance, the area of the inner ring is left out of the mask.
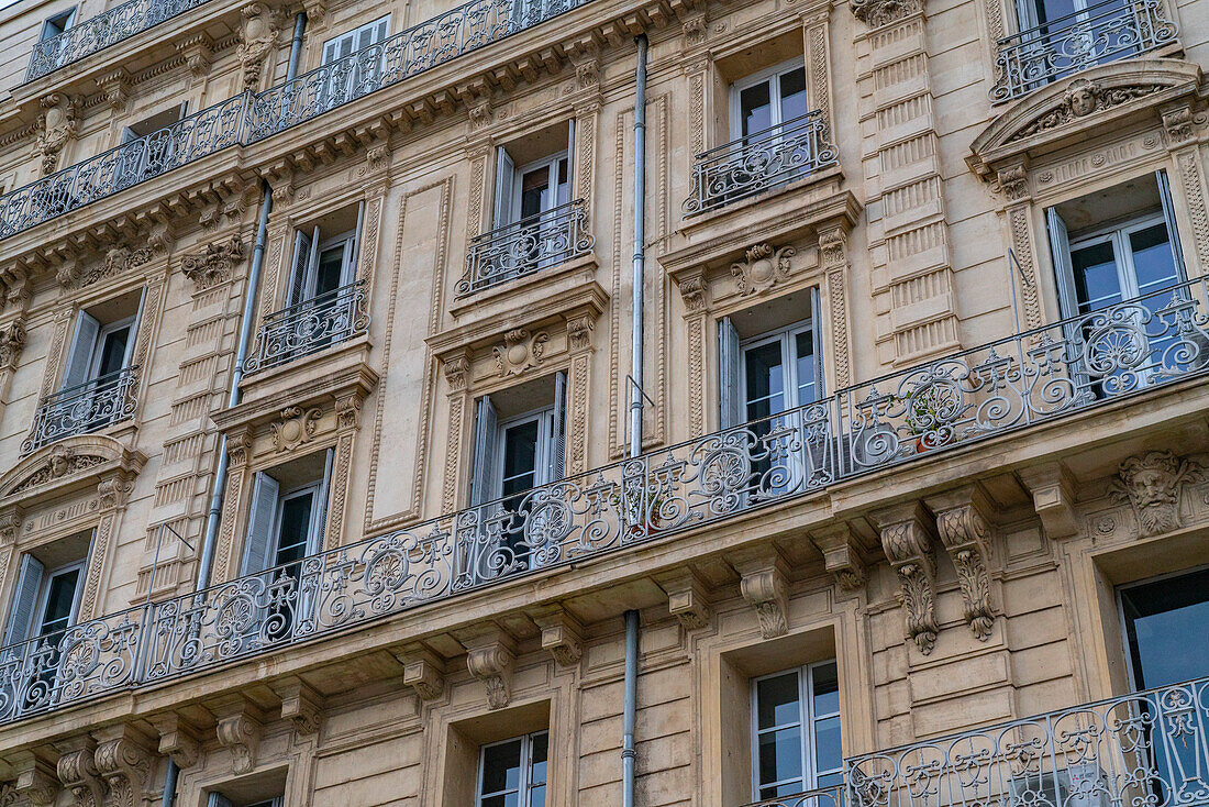
<path id="1" fill-rule="evenodd" d="M 843 782 L 834 661 L 752 681 L 752 763 L 757 801 Z"/>

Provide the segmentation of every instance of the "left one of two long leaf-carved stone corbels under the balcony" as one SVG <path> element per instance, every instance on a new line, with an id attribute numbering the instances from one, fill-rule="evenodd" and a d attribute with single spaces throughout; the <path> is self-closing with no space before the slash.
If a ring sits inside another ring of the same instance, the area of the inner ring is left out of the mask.
<path id="1" fill-rule="evenodd" d="M 927 656 L 936 647 L 936 555 L 933 530 L 919 502 L 870 514 L 881 548 L 902 583 L 907 636 Z"/>

